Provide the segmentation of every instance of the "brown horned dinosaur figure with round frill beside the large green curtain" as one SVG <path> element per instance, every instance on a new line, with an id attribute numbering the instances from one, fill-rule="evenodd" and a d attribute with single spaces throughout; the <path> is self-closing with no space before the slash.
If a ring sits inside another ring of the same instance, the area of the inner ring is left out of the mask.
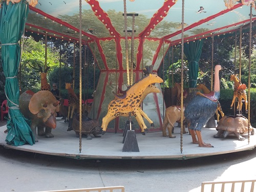
<path id="1" fill-rule="evenodd" d="M 55 113 L 58 104 L 59 101 L 49 91 L 34 93 L 31 90 L 27 90 L 19 96 L 19 110 L 24 117 L 31 120 L 30 128 L 35 142 L 38 142 L 36 127 L 39 136 L 53 137 L 51 129 L 56 127 Z M 44 131 L 45 126 L 46 131 Z"/>

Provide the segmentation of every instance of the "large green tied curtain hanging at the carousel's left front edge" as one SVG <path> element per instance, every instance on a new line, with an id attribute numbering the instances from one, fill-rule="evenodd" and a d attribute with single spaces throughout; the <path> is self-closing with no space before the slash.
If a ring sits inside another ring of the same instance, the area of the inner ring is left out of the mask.
<path id="1" fill-rule="evenodd" d="M 9 5 L 3 2 L 0 9 L 0 41 L 2 43 L 2 65 L 6 77 L 5 92 L 9 105 L 7 121 L 8 134 L 6 142 L 18 146 L 35 143 L 30 126 L 20 113 L 18 66 L 20 60 L 20 46 L 24 26 L 28 17 L 29 8 L 26 1 Z"/>

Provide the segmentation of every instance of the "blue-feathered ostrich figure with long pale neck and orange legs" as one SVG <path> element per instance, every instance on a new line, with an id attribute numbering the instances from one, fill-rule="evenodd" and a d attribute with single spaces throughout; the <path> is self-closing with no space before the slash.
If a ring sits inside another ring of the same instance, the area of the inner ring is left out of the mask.
<path id="1" fill-rule="evenodd" d="M 201 129 L 214 116 L 217 110 L 218 100 L 220 98 L 219 71 L 221 69 L 220 65 L 215 66 L 214 92 L 210 92 L 209 94 L 197 92 L 196 96 L 187 103 L 184 111 L 184 116 L 190 122 L 188 131 L 192 137 L 192 141 L 195 144 L 199 144 L 200 147 L 213 147 L 211 144 L 203 142 Z"/>

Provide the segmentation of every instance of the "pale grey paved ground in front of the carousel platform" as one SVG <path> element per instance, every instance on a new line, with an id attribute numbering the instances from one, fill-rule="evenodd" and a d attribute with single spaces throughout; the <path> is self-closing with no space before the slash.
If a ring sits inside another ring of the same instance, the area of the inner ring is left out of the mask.
<path id="1" fill-rule="evenodd" d="M 1 191 L 123 185 L 126 192 L 200 191 L 203 181 L 256 179 L 256 150 L 188 160 L 76 160 L 0 146 Z"/>

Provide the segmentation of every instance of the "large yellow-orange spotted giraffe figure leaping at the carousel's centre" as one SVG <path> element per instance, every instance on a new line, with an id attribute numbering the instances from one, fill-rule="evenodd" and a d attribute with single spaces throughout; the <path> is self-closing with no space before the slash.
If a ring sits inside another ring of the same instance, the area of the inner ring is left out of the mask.
<path id="1" fill-rule="evenodd" d="M 136 120 L 139 123 L 139 126 L 145 130 L 147 127 L 143 121 L 143 118 L 140 114 L 140 103 L 142 102 L 142 95 L 145 89 L 153 83 L 161 83 L 163 79 L 161 79 L 156 74 L 148 74 L 136 83 L 134 83 L 131 87 L 126 90 L 126 94 L 123 95 L 122 98 L 117 98 L 112 100 L 108 106 L 108 113 L 102 119 L 102 135 L 105 134 L 106 128 L 111 120 L 116 117 L 133 113 Z"/>

